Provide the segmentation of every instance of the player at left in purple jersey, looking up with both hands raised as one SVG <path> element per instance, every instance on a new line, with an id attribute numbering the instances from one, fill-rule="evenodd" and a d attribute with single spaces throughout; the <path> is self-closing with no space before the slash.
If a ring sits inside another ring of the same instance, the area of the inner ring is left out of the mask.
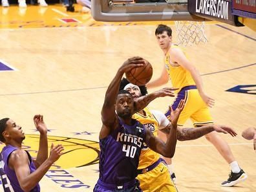
<path id="1" fill-rule="evenodd" d="M 40 133 L 40 140 L 36 159 L 32 160 L 28 151 L 21 149 L 25 140 L 21 126 L 9 118 L 0 120 L 0 140 L 6 145 L 0 156 L 0 173 L 5 192 L 39 192 L 39 181 L 62 155 L 62 145 L 52 144 L 48 157 L 47 127 L 43 116 L 35 115 L 34 123 Z"/>

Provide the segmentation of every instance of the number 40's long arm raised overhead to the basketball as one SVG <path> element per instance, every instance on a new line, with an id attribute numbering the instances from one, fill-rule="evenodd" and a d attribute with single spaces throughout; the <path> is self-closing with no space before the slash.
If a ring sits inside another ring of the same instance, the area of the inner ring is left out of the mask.
<path id="1" fill-rule="evenodd" d="M 107 88 L 105 100 L 101 109 L 101 120 L 103 127 L 101 128 L 100 138 L 107 136 L 111 129 L 116 128 L 118 123 L 114 105 L 116 104 L 116 98 L 123 74 L 133 69 L 134 67 L 142 67 L 143 65 L 144 59 L 140 57 L 129 58 L 118 69 L 118 72 L 116 72 L 116 76 L 114 76 L 114 79 L 111 81 L 109 87 Z"/>

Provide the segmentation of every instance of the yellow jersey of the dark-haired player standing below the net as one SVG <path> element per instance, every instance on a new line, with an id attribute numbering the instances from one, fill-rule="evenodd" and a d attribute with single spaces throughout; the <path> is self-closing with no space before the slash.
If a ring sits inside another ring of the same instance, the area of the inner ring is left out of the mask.
<path id="1" fill-rule="evenodd" d="M 171 45 L 171 48 L 179 48 L 180 50 L 182 50 L 177 45 Z M 184 52 L 184 51 L 182 50 L 182 52 Z M 185 52 L 184 52 L 184 54 L 186 56 Z M 186 56 L 186 58 L 187 58 L 187 56 Z M 184 67 L 178 65 L 178 63 L 170 62 L 169 51 L 167 52 L 167 54 L 165 54 L 164 63 L 165 63 L 165 69 L 167 70 L 167 72 L 169 74 L 169 79 L 171 80 L 173 87 L 178 88 L 178 90 L 175 92 L 179 92 L 180 89 L 182 89 L 182 87 L 186 87 L 189 85 L 195 85 L 195 81 L 193 80 L 191 73 L 188 70 L 186 70 L 186 69 L 184 69 Z"/>

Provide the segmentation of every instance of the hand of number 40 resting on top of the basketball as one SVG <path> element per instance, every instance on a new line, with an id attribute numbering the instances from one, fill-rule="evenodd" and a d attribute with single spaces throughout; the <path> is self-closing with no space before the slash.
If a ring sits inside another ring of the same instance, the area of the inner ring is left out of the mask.
<path id="1" fill-rule="evenodd" d="M 133 58 L 127 59 L 123 63 L 123 65 L 120 67 L 119 70 L 125 73 L 125 72 L 129 72 L 133 68 L 142 67 L 143 65 L 145 65 L 145 60 L 143 58 L 133 57 Z"/>

